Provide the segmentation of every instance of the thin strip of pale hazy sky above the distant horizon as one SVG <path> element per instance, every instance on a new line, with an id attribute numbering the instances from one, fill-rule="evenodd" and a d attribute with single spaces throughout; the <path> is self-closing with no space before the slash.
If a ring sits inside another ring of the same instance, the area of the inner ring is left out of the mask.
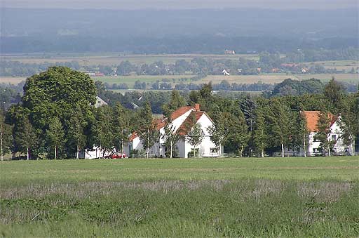
<path id="1" fill-rule="evenodd" d="M 15 8 L 358 8 L 358 0 L 0 0 L 1 7 Z"/>

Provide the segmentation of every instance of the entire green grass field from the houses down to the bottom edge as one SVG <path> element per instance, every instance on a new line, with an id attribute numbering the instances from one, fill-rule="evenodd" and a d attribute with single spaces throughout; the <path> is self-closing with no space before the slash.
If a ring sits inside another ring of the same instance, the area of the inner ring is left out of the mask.
<path id="1" fill-rule="evenodd" d="M 0 163 L 3 237 L 358 237 L 359 157 Z"/>

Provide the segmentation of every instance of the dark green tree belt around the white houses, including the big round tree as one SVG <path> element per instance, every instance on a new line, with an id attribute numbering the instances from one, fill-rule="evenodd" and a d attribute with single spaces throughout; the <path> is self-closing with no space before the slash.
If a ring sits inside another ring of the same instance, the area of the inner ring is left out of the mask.
<path id="1" fill-rule="evenodd" d="M 121 151 L 131 132 L 151 124 L 150 98 L 143 98 L 135 110 L 114 98 L 110 105 L 95 108 L 91 105 L 96 89 L 106 92 L 100 86 L 86 74 L 65 67 L 51 67 L 27 79 L 21 102 L 1 113 L 3 152 L 14 157 L 27 154 L 31 159 L 71 159 L 93 145 Z M 334 80 L 323 93 L 272 98 L 226 98 L 213 94 L 211 84 L 206 84 L 187 97 L 172 91 L 168 103 L 163 102 L 158 105 L 165 112 L 200 104 L 215 122 L 213 139 L 221 140 L 225 152 L 241 156 L 272 155 L 282 145 L 297 150 L 308 134 L 300 114 L 303 110 L 341 114 L 346 141 L 355 138 L 358 142 L 359 95 L 346 93 Z"/>

